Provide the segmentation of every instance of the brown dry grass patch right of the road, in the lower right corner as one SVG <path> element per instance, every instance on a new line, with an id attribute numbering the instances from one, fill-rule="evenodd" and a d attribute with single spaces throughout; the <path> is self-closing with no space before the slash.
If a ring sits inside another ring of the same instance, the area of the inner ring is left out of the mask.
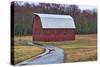
<path id="1" fill-rule="evenodd" d="M 96 60 L 96 50 L 95 49 L 76 49 L 74 51 L 66 51 L 65 62 L 74 61 L 90 61 Z"/>

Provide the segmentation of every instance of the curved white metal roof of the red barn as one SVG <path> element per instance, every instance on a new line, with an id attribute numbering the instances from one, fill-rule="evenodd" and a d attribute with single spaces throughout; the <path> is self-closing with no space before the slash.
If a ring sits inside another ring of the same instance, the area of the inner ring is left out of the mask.
<path id="1" fill-rule="evenodd" d="M 75 28 L 74 20 L 69 15 L 39 14 L 42 28 Z"/>

